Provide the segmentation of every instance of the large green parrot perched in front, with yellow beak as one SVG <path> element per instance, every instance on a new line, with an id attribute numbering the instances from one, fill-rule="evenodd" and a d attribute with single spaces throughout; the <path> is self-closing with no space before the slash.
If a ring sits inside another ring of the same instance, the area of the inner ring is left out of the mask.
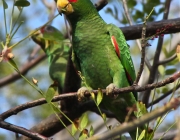
<path id="1" fill-rule="evenodd" d="M 107 24 L 90 0 L 57 0 L 57 9 L 72 28 L 72 60 L 86 83 L 78 94 L 89 89 L 106 89 L 100 105 L 123 123 L 128 108 L 136 105 L 137 92 L 111 94 L 116 88 L 133 85 L 136 79 L 129 46 L 121 29 Z M 133 118 L 135 114 L 131 113 L 129 120 Z M 136 130 L 129 134 L 136 139 Z"/>

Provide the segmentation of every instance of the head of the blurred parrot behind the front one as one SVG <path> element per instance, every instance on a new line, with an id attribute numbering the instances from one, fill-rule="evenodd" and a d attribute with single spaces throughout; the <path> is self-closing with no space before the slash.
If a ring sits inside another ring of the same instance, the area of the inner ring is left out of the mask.
<path id="1" fill-rule="evenodd" d="M 35 43 L 40 45 L 46 53 L 55 49 L 53 48 L 54 43 L 61 43 L 64 40 L 63 34 L 51 25 L 42 26 L 31 38 Z"/>

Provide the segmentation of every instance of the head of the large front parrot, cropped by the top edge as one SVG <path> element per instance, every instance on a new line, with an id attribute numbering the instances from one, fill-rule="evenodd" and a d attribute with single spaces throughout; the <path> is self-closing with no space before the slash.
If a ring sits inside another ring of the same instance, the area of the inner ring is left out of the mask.
<path id="1" fill-rule="evenodd" d="M 95 9 L 90 0 L 57 0 L 57 8 L 60 14 L 75 17 L 86 16 L 87 13 L 91 13 Z"/>

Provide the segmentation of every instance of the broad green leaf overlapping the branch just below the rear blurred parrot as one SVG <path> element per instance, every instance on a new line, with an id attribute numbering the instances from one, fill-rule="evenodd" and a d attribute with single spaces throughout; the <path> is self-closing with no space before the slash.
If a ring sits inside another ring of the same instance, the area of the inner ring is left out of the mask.
<path id="1" fill-rule="evenodd" d="M 56 90 L 57 90 L 57 86 L 55 86 L 54 84 L 49 86 L 49 88 L 48 88 L 48 90 L 46 92 L 46 96 L 45 96 L 46 101 L 48 103 L 51 102 L 52 98 L 54 97 L 54 94 L 55 94 Z"/>

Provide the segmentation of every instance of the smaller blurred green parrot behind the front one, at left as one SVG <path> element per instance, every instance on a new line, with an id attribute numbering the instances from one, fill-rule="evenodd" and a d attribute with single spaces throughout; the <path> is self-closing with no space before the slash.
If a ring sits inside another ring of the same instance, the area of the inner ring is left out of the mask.
<path id="1" fill-rule="evenodd" d="M 64 39 L 58 29 L 50 25 L 41 27 L 31 38 L 48 56 L 49 75 L 53 81 L 58 83 L 58 92 L 62 93 L 70 50 L 66 43 L 68 40 Z"/>

